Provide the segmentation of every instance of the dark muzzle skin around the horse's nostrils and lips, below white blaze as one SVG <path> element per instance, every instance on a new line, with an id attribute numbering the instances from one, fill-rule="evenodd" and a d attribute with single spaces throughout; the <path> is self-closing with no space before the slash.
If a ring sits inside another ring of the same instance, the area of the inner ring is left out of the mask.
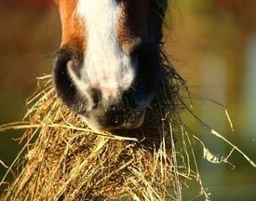
<path id="1" fill-rule="evenodd" d="M 74 67 L 79 69 L 83 63 L 79 58 L 83 58 L 83 54 L 68 47 L 60 49 L 53 69 L 58 96 L 93 130 L 112 131 L 141 127 L 159 85 L 160 57 L 157 48 L 151 44 L 143 44 L 137 51 L 133 55 L 138 56 L 133 82 L 128 87 L 117 88 L 114 95 L 105 96 L 102 87 L 90 86 L 83 89 L 87 85 L 74 82 L 74 78 L 78 77 L 78 80 L 79 76 L 71 75 L 69 64 L 72 61 Z"/>

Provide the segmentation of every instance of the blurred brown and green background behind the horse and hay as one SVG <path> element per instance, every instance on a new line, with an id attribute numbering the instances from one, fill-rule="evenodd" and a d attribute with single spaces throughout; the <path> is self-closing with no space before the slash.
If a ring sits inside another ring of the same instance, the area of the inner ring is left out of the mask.
<path id="1" fill-rule="evenodd" d="M 61 26 L 52 0 L 1 0 L 0 24 L 2 125 L 22 118 L 35 77 L 51 73 Z M 195 114 L 256 161 L 256 1 L 173 0 L 164 32 L 165 50 L 188 82 Z M 229 111 L 235 132 L 214 101 Z M 225 156 L 231 150 L 188 114 L 183 118 L 212 153 Z M 21 133 L 0 133 L 0 159 L 7 166 L 19 152 L 15 139 Z M 235 169 L 210 164 L 202 149 L 196 155 L 212 200 L 256 200 L 256 169 L 240 154 L 230 157 Z M 0 165 L 0 180 L 5 171 Z"/>

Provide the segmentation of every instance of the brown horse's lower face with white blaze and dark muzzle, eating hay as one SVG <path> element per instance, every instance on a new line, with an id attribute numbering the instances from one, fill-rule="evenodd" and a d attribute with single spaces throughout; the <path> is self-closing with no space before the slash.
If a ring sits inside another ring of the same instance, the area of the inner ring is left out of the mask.
<path id="1" fill-rule="evenodd" d="M 88 127 L 141 127 L 160 82 L 163 2 L 56 0 L 62 35 L 54 86 Z"/>

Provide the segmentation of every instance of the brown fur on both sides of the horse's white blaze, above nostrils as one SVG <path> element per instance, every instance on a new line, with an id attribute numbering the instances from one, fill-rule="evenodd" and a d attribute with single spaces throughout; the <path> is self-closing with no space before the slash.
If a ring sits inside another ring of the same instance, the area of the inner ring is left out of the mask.
<path id="1" fill-rule="evenodd" d="M 82 19 L 76 16 L 77 0 L 56 0 L 60 9 L 62 24 L 61 47 L 86 50 L 86 28 Z M 123 51 L 132 52 L 141 39 L 147 37 L 148 0 L 125 0 L 120 2 L 121 15 L 118 16 L 117 40 Z"/>

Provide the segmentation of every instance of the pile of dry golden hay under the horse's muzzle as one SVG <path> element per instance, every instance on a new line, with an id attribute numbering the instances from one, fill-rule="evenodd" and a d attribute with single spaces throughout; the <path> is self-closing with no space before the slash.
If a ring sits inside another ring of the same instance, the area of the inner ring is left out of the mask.
<path id="1" fill-rule="evenodd" d="M 119 135 L 91 131 L 61 104 L 51 76 L 39 78 L 25 121 L 1 127 L 26 129 L 20 140 L 24 147 L 7 171 L 15 180 L 3 199 L 181 200 L 186 181 L 201 187 L 189 165 L 179 117 L 184 83 L 171 67 L 162 70 L 162 86 L 144 126 Z M 179 152 L 177 139 L 184 143 Z"/>

